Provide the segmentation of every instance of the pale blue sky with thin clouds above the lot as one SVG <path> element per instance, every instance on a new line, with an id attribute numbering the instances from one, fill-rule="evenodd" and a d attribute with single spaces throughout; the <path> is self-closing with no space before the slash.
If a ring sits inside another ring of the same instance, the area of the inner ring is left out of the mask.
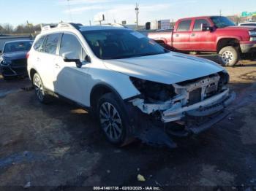
<path id="1" fill-rule="evenodd" d="M 105 23 L 135 24 L 135 4 L 139 5 L 138 23 L 199 15 L 235 15 L 256 12 L 255 0 L 0 0 L 0 24 L 73 22 L 98 24 L 95 15 L 105 15 Z"/>

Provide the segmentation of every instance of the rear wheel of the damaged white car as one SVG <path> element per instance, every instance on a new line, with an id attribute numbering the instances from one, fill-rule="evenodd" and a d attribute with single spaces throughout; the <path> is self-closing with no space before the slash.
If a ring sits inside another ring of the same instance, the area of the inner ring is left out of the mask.
<path id="1" fill-rule="evenodd" d="M 47 95 L 45 93 L 45 88 L 44 88 L 44 85 L 42 84 L 42 79 L 37 73 L 35 73 L 33 76 L 33 85 L 34 85 L 34 90 L 35 90 L 37 99 L 42 104 L 48 104 L 50 102 L 50 95 Z"/>

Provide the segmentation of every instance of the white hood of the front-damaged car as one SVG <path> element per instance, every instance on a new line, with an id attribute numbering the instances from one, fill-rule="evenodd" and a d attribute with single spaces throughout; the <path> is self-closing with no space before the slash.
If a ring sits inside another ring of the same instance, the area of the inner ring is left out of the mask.
<path id="1" fill-rule="evenodd" d="M 183 82 L 224 70 L 212 61 L 176 52 L 110 60 L 104 63 L 113 71 L 164 84 Z"/>

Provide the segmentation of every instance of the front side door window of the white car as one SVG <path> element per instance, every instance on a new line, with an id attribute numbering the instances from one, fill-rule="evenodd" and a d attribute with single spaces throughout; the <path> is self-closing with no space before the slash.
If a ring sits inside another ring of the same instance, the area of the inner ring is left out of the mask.
<path id="1" fill-rule="evenodd" d="M 64 34 L 62 36 L 59 54 L 62 55 L 67 52 L 74 52 L 75 58 L 82 59 L 82 45 L 73 34 Z"/>

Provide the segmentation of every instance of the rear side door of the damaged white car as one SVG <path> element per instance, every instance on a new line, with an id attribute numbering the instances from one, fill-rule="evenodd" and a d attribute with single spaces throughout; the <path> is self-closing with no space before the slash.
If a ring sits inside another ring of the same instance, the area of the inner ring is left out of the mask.
<path id="1" fill-rule="evenodd" d="M 44 87 L 54 91 L 54 64 L 56 61 L 57 46 L 61 33 L 48 34 L 42 45 L 42 50 L 37 54 L 37 72 L 39 73 Z"/>

